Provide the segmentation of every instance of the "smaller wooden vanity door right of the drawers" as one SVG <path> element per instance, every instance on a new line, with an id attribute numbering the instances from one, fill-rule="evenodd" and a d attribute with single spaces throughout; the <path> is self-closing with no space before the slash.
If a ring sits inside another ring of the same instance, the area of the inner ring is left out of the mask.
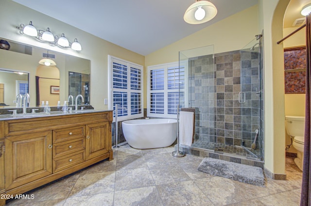
<path id="1" fill-rule="evenodd" d="M 109 122 L 86 125 L 86 160 L 108 153 Z"/>

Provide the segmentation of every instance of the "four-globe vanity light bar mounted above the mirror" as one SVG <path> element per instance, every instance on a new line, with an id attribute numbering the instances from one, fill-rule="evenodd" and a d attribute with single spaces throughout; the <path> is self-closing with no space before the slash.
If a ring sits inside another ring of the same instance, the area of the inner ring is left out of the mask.
<path id="1" fill-rule="evenodd" d="M 68 39 L 65 37 L 65 34 L 62 33 L 60 37 L 57 35 L 52 34 L 50 31 L 50 28 L 48 27 L 46 31 L 44 30 L 37 30 L 33 22 L 30 21 L 28 25 L 20 24 L 19 27 L 17 27 L 19 30 L 19 33 L 26 34 L 29 36 L 35 37 L 40 42 L 49 43 L 50 45 L 57 45 L 61 48 L 71 48 L 75 51 L 81 51 L 82 47 L 81 44 L 78 42 L 78 40 L 75 38 L 73 43 L 70 43 Z"/>

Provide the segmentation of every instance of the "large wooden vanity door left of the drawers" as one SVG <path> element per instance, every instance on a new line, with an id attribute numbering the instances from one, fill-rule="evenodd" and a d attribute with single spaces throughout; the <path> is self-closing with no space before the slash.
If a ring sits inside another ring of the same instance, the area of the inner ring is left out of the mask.
<path id="1" fill-rule="evenodd" d="M 11 136 L 4 143 L 6 190 L 52 174 L 52 131 Z"/>

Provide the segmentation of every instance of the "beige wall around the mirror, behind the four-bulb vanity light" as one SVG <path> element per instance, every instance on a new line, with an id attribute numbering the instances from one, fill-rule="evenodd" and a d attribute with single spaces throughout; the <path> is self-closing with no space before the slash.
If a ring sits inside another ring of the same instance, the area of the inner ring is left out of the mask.
<path id="1" fill-rule="evenodd" d="M 70 41 L 77 38 L 82 45 L 82 51 L 78 53 L 71 49 L 52 47 L 49 44 L 36 41 L 35 38 L 19 34 L 16 27 L 19 24 L 28 24 L 29 21 L 33 21 L 37 29 L 50 27 L 55 34 L 65 33 Z M 0 23 L 3 25 L 0 30 L 0 37 L 2 38 L 90 60 L 90 101 L 96 109 L 108 109 L 108 106 L 104 105 L 104 98 L 108 98 L 108 54 L 140 65 L 144 65 L 145 62 L 145 57 L 142 55 L 121 48 L 11 0 L 0 1 Z M 2 66 L 0 65 L 0 67 Z"/>

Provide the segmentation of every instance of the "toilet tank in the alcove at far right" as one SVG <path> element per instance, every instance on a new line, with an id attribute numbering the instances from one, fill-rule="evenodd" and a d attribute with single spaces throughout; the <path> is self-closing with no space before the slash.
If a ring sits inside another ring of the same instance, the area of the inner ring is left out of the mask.
<path id="1" fill-rule="evenodd" d="M 303 116 L 285 116 L 286 132 L 289 136 L 305 136 L 305 117 Z"/>

